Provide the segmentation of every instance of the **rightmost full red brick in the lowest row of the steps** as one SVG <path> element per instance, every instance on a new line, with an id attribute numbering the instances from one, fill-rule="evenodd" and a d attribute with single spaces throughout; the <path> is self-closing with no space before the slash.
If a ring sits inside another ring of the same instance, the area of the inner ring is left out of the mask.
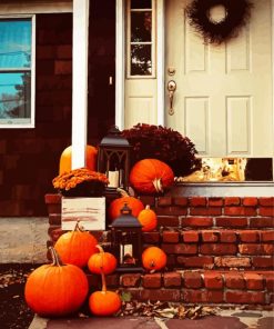
<path id="1" fill-rule="evenodd" d="M 226 291 L 226 302 L 231 303 L 265 303 L 265 293 L 261 291 Z"/>

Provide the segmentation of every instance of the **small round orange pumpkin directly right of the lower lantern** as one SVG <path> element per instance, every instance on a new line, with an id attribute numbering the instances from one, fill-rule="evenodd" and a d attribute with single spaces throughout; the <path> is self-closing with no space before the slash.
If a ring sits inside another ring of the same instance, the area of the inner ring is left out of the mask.
<path id="1" fill-rule="evenodd" d="M 158 247 L 149 247 L 142 253 L 142 262 L 146 270 L 161 270 L 166 266 L 166 255 Z"/>

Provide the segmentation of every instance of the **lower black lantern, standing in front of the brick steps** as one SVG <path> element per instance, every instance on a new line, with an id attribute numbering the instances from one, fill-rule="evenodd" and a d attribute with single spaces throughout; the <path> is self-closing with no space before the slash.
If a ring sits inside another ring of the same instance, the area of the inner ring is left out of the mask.
<path id="1" fill-rule="evenodd" d="M 124 203 L 121 216 L 111 226 L 111 249 L 118 260 L 116 271 L 140 272 L 142 268 L 142 226 Z"/>

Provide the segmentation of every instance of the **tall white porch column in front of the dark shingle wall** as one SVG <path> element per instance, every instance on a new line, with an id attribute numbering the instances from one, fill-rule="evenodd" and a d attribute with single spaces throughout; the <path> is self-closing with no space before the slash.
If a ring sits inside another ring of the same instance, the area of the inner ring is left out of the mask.
<path id="1" fill-rule="evenodd" d="M 88 116 L 89 0 L 73 1 L 72 169 L 85 166 Z"/>

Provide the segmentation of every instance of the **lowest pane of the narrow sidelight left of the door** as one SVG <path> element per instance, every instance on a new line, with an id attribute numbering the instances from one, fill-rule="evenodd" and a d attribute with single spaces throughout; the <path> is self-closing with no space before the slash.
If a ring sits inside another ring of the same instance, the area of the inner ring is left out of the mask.
<path id="1" fill-rule="evenodd" d="M 151 76 L 151 44 L 131 46 L 131 76 Z"/>

